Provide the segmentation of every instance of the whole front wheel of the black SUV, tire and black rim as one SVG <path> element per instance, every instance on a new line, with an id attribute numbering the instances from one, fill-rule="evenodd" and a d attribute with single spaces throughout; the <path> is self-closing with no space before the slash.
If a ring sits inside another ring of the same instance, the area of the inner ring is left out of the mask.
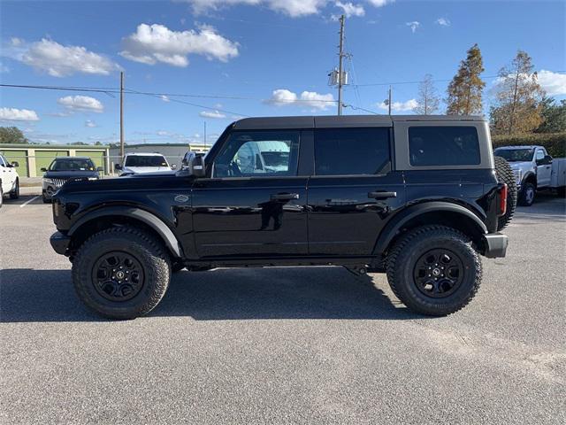
<path id="1" fill-rule="evenodd" d="M 139 228 L 108 228 L 80 246 L 73 259 L 79 298 L 111 319 L 149 313 L 169 286 L 171 263 L 163 243 Z"/>

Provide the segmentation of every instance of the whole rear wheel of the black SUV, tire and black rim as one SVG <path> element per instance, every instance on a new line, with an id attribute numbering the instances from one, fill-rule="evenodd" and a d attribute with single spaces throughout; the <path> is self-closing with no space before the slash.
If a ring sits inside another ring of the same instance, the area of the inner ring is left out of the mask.
<path id="1" fill-rule="evenodd" d="M 386 273 L 404 305 L 417 313 L 445 316 L 474 298 L 482 271 L 469 237 L 454 228 L 424 226 L 394 243 Z"/>

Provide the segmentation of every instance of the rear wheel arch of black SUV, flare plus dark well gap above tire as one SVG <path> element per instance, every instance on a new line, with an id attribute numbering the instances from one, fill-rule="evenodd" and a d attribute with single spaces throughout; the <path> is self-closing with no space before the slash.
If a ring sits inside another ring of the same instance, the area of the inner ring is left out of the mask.
<path id="1" fill-rule="evenodd" d="M 404 232 L 411 228 L 440 224 L 462 231 L 481 249 L 482 236 L 488 233 L 486 224 L 468 208 L 446 201 L 412 205 L 398 213 L 381 231 L 374 254 L 383 254 Z"/>

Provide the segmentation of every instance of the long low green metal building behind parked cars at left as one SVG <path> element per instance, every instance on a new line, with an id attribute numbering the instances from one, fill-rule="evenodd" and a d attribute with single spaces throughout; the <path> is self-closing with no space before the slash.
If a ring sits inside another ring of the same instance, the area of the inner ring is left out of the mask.
<path id="1" fill-rule="evenodd" d="M 71 145 L 71 144 L 3 144 L 0 154 L 11 161 L 18 161 L 20 177 L 39 177 L 42 168 L 50 166 L 56 157 L 89 157 L 96 166 L 102 166 L 104 174 L 109 174 L 109 146 Z"/>

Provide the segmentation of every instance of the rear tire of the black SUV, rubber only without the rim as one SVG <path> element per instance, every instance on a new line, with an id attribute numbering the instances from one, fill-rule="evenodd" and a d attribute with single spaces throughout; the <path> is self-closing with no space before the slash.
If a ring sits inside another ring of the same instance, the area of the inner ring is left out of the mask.
<path id="1" fill-rule="evenodd" d="M 417 260 L 428 251 L 447 249 L 463 264 L 463 280 L 445 298 L 432 298 L 417 288 L 414 271 Z M 455 313 L 470 303 L 478 292 L 482 276 L 481 259 L 468 236 L 445 226 L 423 226 L 401 236 L 386 258 L 387 281 L 404 305 L 431 316 Z"/>

